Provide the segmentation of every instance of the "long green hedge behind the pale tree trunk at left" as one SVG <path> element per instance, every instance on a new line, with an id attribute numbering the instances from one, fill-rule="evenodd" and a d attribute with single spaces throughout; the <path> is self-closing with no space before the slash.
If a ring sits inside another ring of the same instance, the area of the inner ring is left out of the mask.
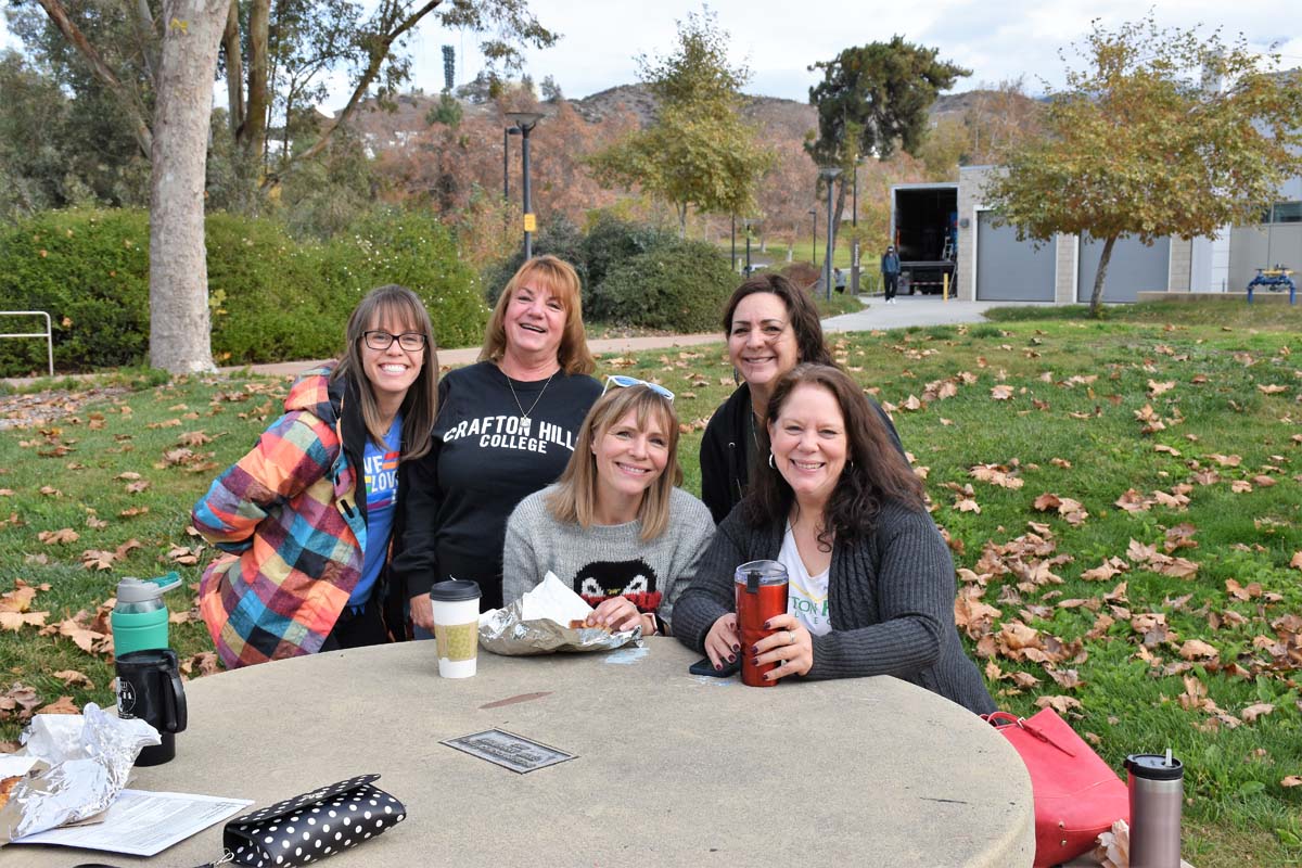
<path id="1" fill-rule="evenodd" d="M 298 242 L 268 219 L 210 213 L 212 354 L 219 364 L 337 355 L 348 315 L 374 286 L 404 284 L 430 308 L 440 346 L 483 337 L 475 275 L 432 217 L 370 215 L 326 243 Z M 0 230 L 0 310 L 53 320 L 55 367 L 92 371 L 148 355 L 148 216 L 48 211 Z M 7 332 L 39 320 L 4 318 Z M 12 328 L 10 328 L 12 327 Z M 0 341 L 0 375 L 44 371 L 36 340 Z"/>

